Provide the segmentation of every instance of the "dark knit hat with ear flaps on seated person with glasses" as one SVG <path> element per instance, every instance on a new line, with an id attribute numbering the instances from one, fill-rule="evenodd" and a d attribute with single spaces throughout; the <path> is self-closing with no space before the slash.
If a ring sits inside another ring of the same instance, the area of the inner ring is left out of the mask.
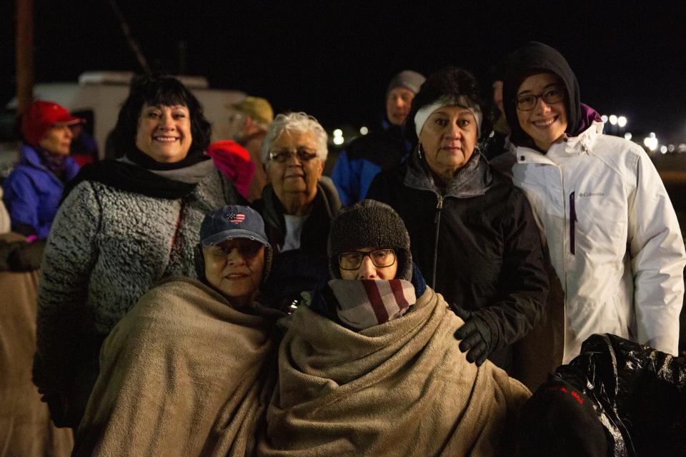
<path id="1" fill-rule="evenodd" d="M 412 253 L 409 233 L 400 216 L 387 204 L 362 200 L 342 209 L 331 223 L 329 231 L 329 271 L 341 278 L 339 253 L 360 248 L 393 248 L 398 262 L 396 279 L 412 280 Z"/>

